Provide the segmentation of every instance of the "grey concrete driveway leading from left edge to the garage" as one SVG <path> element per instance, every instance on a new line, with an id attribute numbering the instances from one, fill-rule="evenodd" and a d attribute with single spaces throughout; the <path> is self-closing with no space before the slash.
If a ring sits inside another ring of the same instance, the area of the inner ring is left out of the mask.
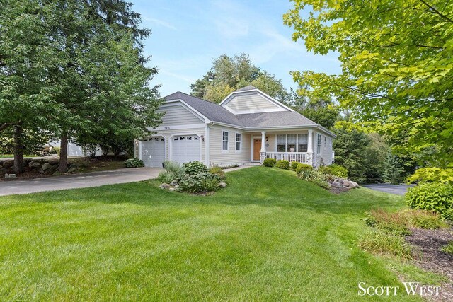
<path id="1" fill-rule="evenodd" d="M 33 180 L 8 180 L 0 182 L 0 196 L 137 182 L 156 178 L 161 170 L 163 169 L 130 168 L 73 175 L 59 175 Z"/>

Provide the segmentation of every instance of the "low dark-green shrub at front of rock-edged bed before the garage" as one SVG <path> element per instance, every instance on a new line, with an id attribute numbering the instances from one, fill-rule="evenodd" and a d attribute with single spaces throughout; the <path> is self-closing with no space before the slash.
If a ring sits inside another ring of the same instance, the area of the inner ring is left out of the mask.
<path id="1" fill-rule="evenodd" d="M 217 190 L 218 185 L 219 178 L 209 172 L 185 174 L 179 180 L 178 190 L 192 193 L 212 192 Z"/>

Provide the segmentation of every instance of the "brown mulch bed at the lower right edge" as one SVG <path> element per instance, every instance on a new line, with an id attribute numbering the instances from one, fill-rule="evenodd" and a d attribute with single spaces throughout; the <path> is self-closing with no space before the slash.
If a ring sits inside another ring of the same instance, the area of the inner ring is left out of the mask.
<path id="1" fill-rule="evenodd" d="M 453 228 L 413 228 L 411 231 L 412 236 L 407 236 L 406 241 L 414 247 L 415 263 L 424 269 L 444 274 L 450 281 L 442 286 L 440 296 L 435 297 L 435 301 L 453 301 L 453 255 L 440 250 L 453 241 Z"/>

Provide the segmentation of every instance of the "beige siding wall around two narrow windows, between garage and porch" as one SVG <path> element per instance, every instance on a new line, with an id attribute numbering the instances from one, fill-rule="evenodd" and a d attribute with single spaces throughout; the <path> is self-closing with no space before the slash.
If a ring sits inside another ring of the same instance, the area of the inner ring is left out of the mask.
<path id="1" fill-rule="evenodd" d="M 222 131 L 229 132 L 229 152 L 222 153 Z M 242 133 L 242 150 L 236 152 L 236 132 Z M 213 125 L 210 127 L 210 165 L 243 165 L 250 161 L 250 134 L 240 129 Z"/>

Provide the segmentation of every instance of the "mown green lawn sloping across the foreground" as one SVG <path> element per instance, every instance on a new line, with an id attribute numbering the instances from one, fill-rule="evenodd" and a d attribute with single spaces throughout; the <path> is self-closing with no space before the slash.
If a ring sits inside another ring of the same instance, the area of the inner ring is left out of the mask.
<path id="1" fill-rule="evenodd" d="M 0 300 L 356 301 L 362 281 L 439 281 L 357 248 L 364 211 L 401 197 L 261 167 L 228 181 L 206 197 L 155 182 L 0 197 Z"/>

